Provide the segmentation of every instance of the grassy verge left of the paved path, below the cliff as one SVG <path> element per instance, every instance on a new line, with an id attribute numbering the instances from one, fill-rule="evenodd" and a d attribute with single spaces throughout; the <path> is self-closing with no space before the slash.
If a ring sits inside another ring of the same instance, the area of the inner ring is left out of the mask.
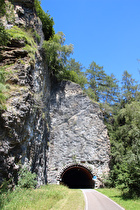
<path id="1" fill-rule="evenodd" d="M 1 210 L 7 209 L 84 209 L 84 197 L 80 190 L 62 185 L 46 185 L 39 189 L 17 188 L 1 195 Z"/>

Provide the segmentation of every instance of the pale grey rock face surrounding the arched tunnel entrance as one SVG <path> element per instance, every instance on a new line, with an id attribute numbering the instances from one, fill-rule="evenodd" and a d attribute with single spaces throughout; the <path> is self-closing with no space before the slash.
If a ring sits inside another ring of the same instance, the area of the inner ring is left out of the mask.
<path id="1" fill-rule="evenodd" d="M 61 82 L 52 90 L 50 120 L 48 183 L 57 183 L 69 164 L 87 165 L 98 179 L 108 173 L 110 144 L 102 113 L 79 85 Z"/>

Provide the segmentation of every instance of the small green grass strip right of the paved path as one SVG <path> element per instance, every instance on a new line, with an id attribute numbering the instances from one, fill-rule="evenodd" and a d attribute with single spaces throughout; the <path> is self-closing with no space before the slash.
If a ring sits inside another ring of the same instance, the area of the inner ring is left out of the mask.
<path id="1" fill-rule="evenodd" d="M 120 206 L 126 210 L 139 210 L 140 209 L 140 199 L 130 199 L 122 195 L 121 190 L 111 188 L 111 189 L 98 189 L 98 192 L 101 192 L 114 200 Z"/>

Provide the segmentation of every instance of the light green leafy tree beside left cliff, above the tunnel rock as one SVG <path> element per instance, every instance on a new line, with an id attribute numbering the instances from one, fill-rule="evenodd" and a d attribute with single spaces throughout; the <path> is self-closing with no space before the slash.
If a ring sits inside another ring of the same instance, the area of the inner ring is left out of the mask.
<path id="1" fill-rule="evenodd" d="M 67 58 L 73 51 L 73 45 L 64 45 L 64 42 L 65 35 L 59 32 L 53 38 L 43 43 L 45 60 L 50 69 L 51 78 L 57 78 L 58 80 L 64 78 Z"/>

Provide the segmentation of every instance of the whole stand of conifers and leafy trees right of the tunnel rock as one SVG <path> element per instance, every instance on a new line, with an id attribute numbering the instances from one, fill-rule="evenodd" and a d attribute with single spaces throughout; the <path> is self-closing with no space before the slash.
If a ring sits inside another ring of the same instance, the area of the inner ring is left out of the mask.
<path id="1" fill-rule="evenodd" d="M 114 75 L 92 62 L 87 69 L 89 96 L 100 104 L 111 142 L 110 174 L 105 184 L 129 197 L 140 195 L 140 92 L 124 71 L 119 87 Z"/>

